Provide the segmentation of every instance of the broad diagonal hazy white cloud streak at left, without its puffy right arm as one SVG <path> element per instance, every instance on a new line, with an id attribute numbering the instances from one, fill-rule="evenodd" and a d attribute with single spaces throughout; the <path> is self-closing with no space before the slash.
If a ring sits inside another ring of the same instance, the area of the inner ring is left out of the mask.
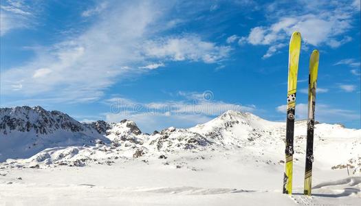
<path id="1" fill-rule="evenodd" d="M 103 89 L 131 70 L 128 65 L 144 59 L 138 43 L 149 32 L 149 23 L 157 18 L 154 10 L 147 3 L 129 8 L 118 5 L 80 36 L 34 50 L 36 58 L 28 64 L 2 71 L 1 78 L 6 81 L 1 81 L 1 93 L 56 102 L 100 98 Z M 46 78 L 28 78 L 29 73 L 39 73 L 39 68 L 52 72 Z M 13 93 L 10 85 L 19 81 L 23 87 Z"/>

